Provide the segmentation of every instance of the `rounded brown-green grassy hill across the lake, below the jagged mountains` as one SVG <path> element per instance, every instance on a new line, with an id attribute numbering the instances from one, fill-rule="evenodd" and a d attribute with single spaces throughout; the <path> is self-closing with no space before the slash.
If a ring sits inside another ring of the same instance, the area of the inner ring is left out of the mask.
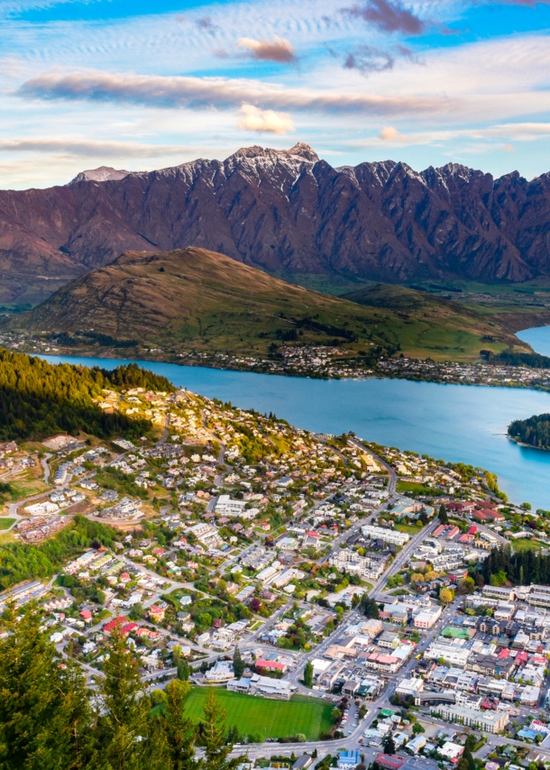
<path id="1" fill-rule="evenodd" d="M 474 310 L 376 284 L 345 298 L 304 289 L 202 249 L 126 252 L 72 281 L 12 328 L 56 335 L 63 348 L 266 355 L 289 344 L 337 344 L 377 357 L 402 352 L 468 360 L 525 344 Z"/>

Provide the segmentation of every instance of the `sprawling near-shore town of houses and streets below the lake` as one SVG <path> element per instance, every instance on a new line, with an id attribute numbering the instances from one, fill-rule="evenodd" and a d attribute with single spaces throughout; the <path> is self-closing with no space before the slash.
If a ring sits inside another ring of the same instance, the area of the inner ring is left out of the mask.
<path id="1" fill-rule="evenodd" d="M 116 628 L 160 699 L 183 678 L 190 708 L 215 687 L 242 709 L 234 751 L 258 766 L 281 751 L 300 766 L 550 759 L 549 511 L 510 503 L 490 472 L 188 390 L 104 390 L 96 406 L 148 417 L 157 439 L 0 445 L 4 542 L 108 533 L 0 595 L 37 601 L 90 685 Z"/>

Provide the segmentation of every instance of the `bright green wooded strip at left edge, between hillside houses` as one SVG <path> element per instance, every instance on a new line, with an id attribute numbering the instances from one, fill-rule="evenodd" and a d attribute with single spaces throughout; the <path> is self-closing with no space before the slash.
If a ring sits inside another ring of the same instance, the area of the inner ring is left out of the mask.
<path id="1" fill-rule="evenodd" d="M 58 535 L 41 545 L 0 545 L 0 591 L 25 580 L 50 577 L 68 559 L 94 545 L 113 545 L 115 538 L 112 527 L 76 516 Z"/>

